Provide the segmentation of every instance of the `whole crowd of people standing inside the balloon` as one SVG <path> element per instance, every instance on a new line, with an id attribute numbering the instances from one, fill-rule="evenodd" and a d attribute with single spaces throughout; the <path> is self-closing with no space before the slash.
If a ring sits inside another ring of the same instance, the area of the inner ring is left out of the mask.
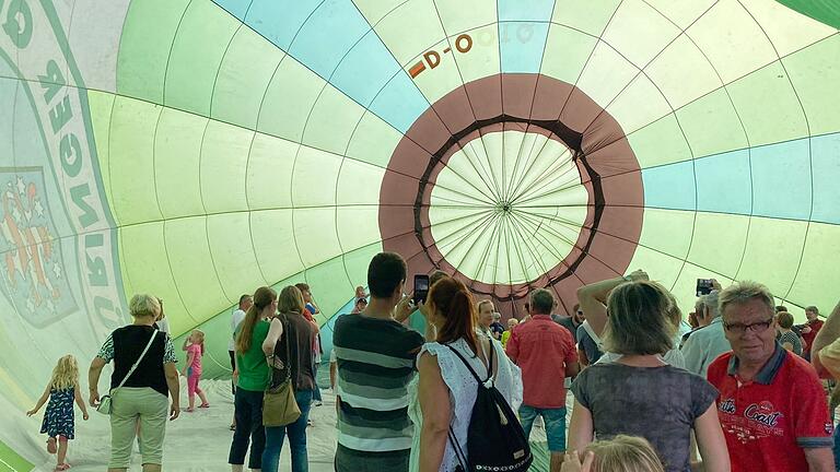
<path id="1" fill-rule="evenodd" d="M 504 321 L 492 300 L 444 272 L 430 275 L 425 299 L 406 294 L 406 280 L 399 255 L 376 255 L 370 294 L 358 287 L 351 312 L 335 321 L 338 472 L 524 471 L 535 424 L 545 428 L 551 472 L 840 468 L 820 379 L 840 376 L 840 305 L 825 323 L 807 307 L 808 321 L 796 326 L 766 286 L 714 282 L 681 335 L 676 298 L 641 270 L 580 287 L 569 310 L 570 300 L 535 288 L 525 316 Z M 73 402 L 85 420 L 88 404 L 110 405 L 109 470 L 127 470 L 136 438 L 143 470 L 161 470 L 166 422 L 180 413 L 179 371 L 161 329 L 162 300 L 135 295 L 129 309 L 133 322 L 91 364 L 88 402 L 66 356 L 28 412 L 49 401 L 42 433 L 56 470 L 69 468 Z M 246 458 L 252 471 L 277 471 L 287 435 L 292 470 L 308 470 L 308 412 L 320 402 L 318 314 L 306 284 L 240 298 L 229 345 L 234 472 Z M 423 332 L 409 326 L 412 316 Z M 194 330 L 182 346 L 188 412 L 196 396 L 197 408 L 209 406 L 199 387 L 203 342 Z M 110 362 L 106 398 L 97 385 Z M 500 432 L 505 440 L 495 440 Z"/>

